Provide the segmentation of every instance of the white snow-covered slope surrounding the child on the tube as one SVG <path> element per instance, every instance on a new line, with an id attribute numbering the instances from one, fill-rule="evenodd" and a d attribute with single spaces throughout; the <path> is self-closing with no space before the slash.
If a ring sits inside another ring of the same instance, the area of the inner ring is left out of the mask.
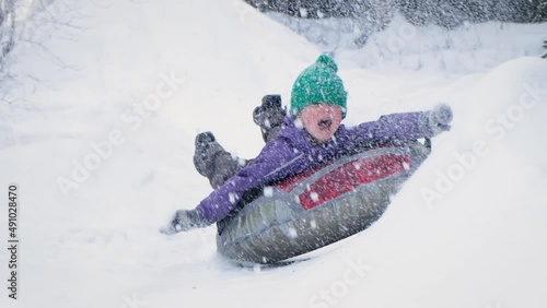
<path id="1" fill-rule="evenodd" d="M 306 262 L 247 269 L 217 254 L 214 227 L 158 228 L 210 191 L 195 134 L 256 155 L 253 108 L 267 93 L 288 103 L 325 50 L 238 1 L 61 3 L 77 27 L 21 43 L 0 104 L 0 307 L 547 305 L 547 24 L 446 33 L 396 17 L 363 49 L 329 48 L 348 125 L 446 102 L 453 129 L 371 228 Z"/>

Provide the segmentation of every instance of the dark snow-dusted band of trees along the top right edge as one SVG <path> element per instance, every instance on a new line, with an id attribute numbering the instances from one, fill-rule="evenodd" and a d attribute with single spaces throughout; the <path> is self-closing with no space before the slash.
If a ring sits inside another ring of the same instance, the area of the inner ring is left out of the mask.
<path id="1" fill-rule="evenodd" d="M 452 28 L 464 22 L 503 21 L 527 23 L 532 12 L 543 12 L 547 0 L 245 0 L 261 11 L 287 15 L 323 17 L 374 17 L 384 7 L 398 10 L 415 25 L 437 24 Z M 534 9 L 536 8 L 536 9 Z M 377 21 L 382 23 L 382 21 Z"/>

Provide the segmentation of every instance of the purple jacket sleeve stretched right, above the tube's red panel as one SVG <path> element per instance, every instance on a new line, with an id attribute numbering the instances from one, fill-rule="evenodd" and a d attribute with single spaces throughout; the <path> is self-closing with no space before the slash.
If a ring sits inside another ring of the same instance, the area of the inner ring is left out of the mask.
<path id="1" fill-rule="evenodd" d="M 377 121 L 361 123 L 349 129 L 349 133 L 357 142 L 430 138 L 431 135 L 420 129 L 420 115 L 422 112 L 382 116 Z"/>

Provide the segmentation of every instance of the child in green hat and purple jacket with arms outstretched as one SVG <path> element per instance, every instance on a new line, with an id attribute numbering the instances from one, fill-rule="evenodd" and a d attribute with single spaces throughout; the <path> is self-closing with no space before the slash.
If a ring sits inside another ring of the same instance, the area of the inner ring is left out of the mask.
<path id="1" fill-rule="evenodd" d="M 280 127 L 277 135 L 267 130 L 277 126 L 260 122 L 260 111 L 268 110 L 267 104 L 263 103 L 258 110 L 255 109 L 255 122 L 266 128 L 263 137 L 269 142 L 252 162 L 237 164 L 232 157 L 220 159 L 230 166 L 225 170 L 217 170 L 221 178 L 211 180 L 216 175 L 210 170 L 206 175 L 216 190 L 196 209 L 178 210 L 166 232 L 189 230 L 219 222 L 235 209 L 244 192 L 350 155 L 358 146 L 432 138 L 450 130 L 452 110 L 447 105 L 438 105 L 431 111 L 382 116 L 377 121 L 346 128 L 341 121 L 347 112 L 347 92 L 337 71 L 334 59 L 323 55 L 299 75 L 291 93 L 290 115 L 284 117 L 281 126 L 274 123 Z M 198 149 L 202 141 L 206 146 L 216 147 L 216 153 L 228 154 L 210 133 L 198 135 L 196 141 Z M 196 156 L 198 171 L 206 174 L 207 162 L 201 159 L 205 157 L 198 152 Z M 232 174 L 225 181 L 222 179 Z"/>

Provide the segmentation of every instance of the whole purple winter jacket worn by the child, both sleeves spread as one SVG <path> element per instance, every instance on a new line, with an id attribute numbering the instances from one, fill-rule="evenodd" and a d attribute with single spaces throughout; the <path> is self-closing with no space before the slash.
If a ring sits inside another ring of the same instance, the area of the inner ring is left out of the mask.
<path id="1" fill-rule="evenodd" d="M 353 128 L 340 125 L 334 138 L 324 144 L 313 142 L 305 130 L 296 128 L 294 121 L 286 117 L 284 128 L 264 146 L 258 157 L 212 191 L 197 210 L 214 223 L 235 209 L 244 192 L 349 155 L 359 144 L 431 138 L 429 130 L 420 129 L 421 114 L 382 116 L 377 121 Z"/>

